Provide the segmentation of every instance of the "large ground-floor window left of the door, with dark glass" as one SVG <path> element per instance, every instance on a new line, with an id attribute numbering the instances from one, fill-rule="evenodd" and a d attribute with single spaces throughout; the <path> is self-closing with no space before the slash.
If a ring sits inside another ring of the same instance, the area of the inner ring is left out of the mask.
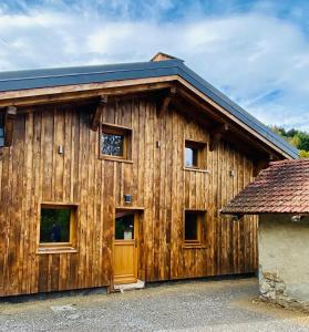
<path id="1" fill-rule="evenodd" d="M 75 207 L 42 205 L 40 247 L 72 247 L 74 222 Z"/>

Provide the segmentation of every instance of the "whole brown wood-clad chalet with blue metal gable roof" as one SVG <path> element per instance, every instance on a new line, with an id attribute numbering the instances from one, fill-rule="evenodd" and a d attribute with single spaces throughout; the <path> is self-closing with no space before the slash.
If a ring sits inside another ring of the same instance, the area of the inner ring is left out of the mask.
<path id="1" fill-rule="evenodd" d="M 257 270 L 223 208 L 297 151 L 190 71 L 0 73 L 0 297 Z"/>

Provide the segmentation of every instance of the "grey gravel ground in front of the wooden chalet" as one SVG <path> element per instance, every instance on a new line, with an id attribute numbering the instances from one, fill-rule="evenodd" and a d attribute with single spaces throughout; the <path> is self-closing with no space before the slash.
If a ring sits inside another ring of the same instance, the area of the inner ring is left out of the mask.
<path id="1" fill-rule="evenodd" d="M 309 331 L 309 315 L 256 301 L 257 294 L 250 278 L 2 301 L 0 331 Z"/>

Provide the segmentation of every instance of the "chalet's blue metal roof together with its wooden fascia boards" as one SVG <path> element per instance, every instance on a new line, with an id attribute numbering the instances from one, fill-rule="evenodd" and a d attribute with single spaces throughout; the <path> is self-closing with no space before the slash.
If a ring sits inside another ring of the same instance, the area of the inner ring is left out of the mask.
<path id="1" fill-rule="evenodd" d="M 224 116 L 230 123 L 250 133 L 284 158 L 298 157 L 295 147 L 177 59 L 134 64 L 0 73 L 0 107 L 145 92 L 166 89 L 175 83 L 182 87 L 181 93 L 198 100 L 202 108 L 204 105 L 205 110 L 206 106 L 212 105 L 218 116 Z"/>

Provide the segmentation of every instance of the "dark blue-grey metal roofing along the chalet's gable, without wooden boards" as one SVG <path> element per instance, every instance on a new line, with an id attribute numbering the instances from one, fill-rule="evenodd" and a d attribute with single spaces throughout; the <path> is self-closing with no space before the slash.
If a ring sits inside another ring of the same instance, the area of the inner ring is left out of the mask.
<path id="1" fill-rule="evenodd" d="M 218 105 L 227 110 L 230 114 L 239 118 L 243 123 L 248 125 L 251 129 L 278 146 L 290 157 L 298 158 L 297 148 L 229 100 L 212 84 L 198 76 L 178 59 L 157 62 L 2 72 L 0 73 L 0 92 L 169 75 L 179 75 Z"/>

